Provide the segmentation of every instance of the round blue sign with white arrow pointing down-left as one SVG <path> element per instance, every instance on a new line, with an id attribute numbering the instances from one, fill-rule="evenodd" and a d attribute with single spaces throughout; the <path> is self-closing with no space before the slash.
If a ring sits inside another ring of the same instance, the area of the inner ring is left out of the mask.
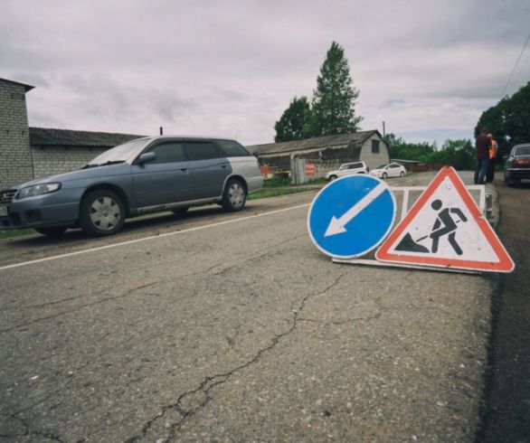
<path id="1" fill-rule="evenodd" d="M 371 175 L 341 177 L 315 197 L 308 231 L 317 248 L 336 259 L 354 259 L 374 250 L 395 220 L 395 199 L 387 184 Z"/>

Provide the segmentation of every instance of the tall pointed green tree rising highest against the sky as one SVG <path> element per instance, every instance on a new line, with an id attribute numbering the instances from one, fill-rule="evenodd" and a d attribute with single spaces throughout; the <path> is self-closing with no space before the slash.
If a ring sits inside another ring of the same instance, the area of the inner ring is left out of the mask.
<path id="1" fill-rule="evenodd" d="M 359 129 L 363 118 L 355 116 L 355 99 L 359 91 L 353 86 L 344 48 L 331 43 L 313 92 L 312 117 L 304 129 L 307 137 L 348 134 Z"/>

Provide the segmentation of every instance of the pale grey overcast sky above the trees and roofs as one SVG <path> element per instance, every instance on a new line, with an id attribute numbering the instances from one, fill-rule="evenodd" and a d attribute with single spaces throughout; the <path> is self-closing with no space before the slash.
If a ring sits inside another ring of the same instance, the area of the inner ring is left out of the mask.
<path id="1" fill-rule="evenodd" d="M 440 144 L 500 99 L 529 23 L 529 0 L 3 0 L 0 77 L 35 86 L 30 126 L 250 145 L 312 95 L 335 40 L 363 129 Z"/>

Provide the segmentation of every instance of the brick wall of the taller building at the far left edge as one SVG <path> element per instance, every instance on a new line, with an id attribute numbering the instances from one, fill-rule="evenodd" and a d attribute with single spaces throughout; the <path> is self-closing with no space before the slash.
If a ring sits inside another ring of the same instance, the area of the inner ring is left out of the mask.
<path id="1" fill-rule="evenodd" d="M 24 86 L 0 80 L 0 189 L 32 178 Z"/>

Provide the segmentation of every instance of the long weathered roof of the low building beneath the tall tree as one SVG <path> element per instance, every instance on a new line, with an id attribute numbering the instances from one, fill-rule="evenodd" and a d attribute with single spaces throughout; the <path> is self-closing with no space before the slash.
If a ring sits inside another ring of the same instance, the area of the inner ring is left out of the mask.
<path id="1" fill-rule="evenodd" d="M 368 138 L 379 131 L 360 131 L 354 134 L 340 134 L 337 136 L 313 137 L 306 140 L 293 140 L 282 143 L 267 143 L 264 145 L 247 146 L 247 149 L 254 156 L 281 156 L 288 155 L 297 151 L 315 151 L 319 149 L 341 149 L 349 146 L 351 143 L 362 145 Z"/>

